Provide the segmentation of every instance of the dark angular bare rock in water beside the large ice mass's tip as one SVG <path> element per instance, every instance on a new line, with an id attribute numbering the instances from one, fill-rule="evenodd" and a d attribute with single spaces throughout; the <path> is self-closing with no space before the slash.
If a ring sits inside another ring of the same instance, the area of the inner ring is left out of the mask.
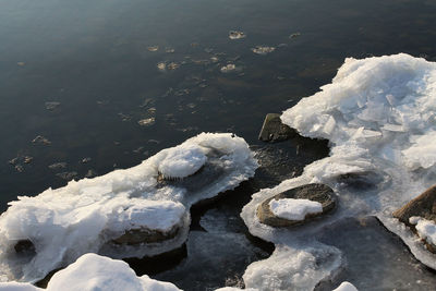
<path id="1" fill-rule="evenodd" d="M 268 113 L 258 138 L 263 142 L 281 142 L 295 135 L 295 131 L 281 123 L 279 113 Z"/>

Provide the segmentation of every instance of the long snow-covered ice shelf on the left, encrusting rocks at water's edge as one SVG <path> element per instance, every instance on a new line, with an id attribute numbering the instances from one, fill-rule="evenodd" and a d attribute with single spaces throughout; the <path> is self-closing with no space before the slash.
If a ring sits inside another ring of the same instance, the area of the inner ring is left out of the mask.
<path id="1" fill-rule="evenodd" d="M 202 133 L 130 169 L 19 197 L 0 217 L 0 281 L 35 281 L 89 252 L 123 258 L 177 248 L 191 205 L 256 168 L 243 138 Z"/>

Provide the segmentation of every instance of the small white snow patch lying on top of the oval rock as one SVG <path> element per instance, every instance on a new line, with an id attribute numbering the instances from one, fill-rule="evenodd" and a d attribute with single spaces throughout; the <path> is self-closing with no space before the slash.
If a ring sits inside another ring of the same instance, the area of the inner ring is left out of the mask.
<path id="1" fill-rule="evenodd" d="M 306 215 L 323 213 L 323 205 L 310 199 L 271 199 L 269 207 L 275 216 L 288 220 L 304 220 Z"/>

